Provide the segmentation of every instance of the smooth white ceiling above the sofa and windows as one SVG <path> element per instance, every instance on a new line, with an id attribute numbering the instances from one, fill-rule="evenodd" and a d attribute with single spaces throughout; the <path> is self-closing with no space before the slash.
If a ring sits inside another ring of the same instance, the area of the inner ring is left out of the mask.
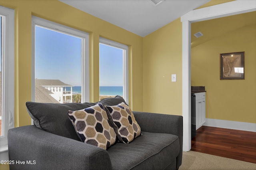
<path id="1" fill-rule="evenodd" d="M 59 0 L 88 14 L 146 36 L 210 0 Z"/>

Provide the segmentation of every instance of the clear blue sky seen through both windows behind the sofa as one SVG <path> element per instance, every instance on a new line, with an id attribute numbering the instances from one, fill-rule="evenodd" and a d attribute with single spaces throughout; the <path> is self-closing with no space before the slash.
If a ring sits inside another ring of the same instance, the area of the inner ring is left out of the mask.
<path id="1" fill-rule="evenodd" d="M 100 86 L 122 86 L 122 49 L 100 44 Z M 35 78 L 81 86 L 81 38 L 36 26 Z"/>

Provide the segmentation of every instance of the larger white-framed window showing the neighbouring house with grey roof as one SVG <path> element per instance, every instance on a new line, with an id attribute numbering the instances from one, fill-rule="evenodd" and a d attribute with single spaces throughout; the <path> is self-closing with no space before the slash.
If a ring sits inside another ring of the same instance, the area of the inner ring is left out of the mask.
<path id="1" fill-rule="evenodd" d="M 88 101 L 89 35 L 34 16 L 32 32 L 32 79 L 35 80 L 32 100 L 42 103 Z M 50 91 L 41 90 L 47 86 L 51 87 Z M 77 89 L 76 93 L 72 88 Z"/>

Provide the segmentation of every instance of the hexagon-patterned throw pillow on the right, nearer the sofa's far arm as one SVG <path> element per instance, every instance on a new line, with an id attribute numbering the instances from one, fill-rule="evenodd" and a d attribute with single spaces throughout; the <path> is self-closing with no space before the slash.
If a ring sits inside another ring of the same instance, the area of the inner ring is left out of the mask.
<path id="1" fill-rule="evenodd" d="M 110 113 L 115 125 L 118 127 L 118 138 L 120 142 L 129 143 L 140 136 L 141 130 L 130 107 L 122 102 L 116 106 L 105 106 Z"/>

